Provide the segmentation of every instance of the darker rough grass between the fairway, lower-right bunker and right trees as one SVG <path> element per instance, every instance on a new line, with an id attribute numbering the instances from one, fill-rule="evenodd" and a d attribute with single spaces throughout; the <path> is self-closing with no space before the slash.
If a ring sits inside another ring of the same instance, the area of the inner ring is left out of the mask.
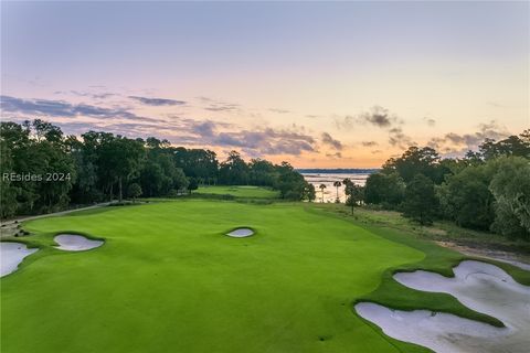
<path id="1" fill-rule="evenodd" d="M 437 229 L 436 227 L 431 227 L 431 229 L 430 227 L 417 227 L 414 224 L 411 224 L 411 222 L 406 218 L 398 215 L 398 213 L 373 212 L 361 208 L 356 210 L 356 214 L 352 216 L 350 214 L 350 210 L 341 205 L 314 204 L 311 207 L 318 210 L 319 212 L 324 211 L 338 218 L 354 222 L 373 234 L 382 236 L 389 240 L 406 245 L 411 248 L 415 248 L 425 254 L 425 257 L 418 263 L 404 264 L 388 268 L 383 274 L 383 280 L 378 289 L 368 293 L 367 296 L 357 298 L 356 302 L 371 301 L 400 310 L 427 309 L 433 311 L 451 312 L 463 318 L 484 321 L 496 327 L 502 327 L 502 323 L 499 320 L 469 310 L 449 295 L 426 295 L 399 284 L 392 279 L 392 276 L 398 271 L 413 271 L 422 269 L 434 271 L 446 277 L 454 277 L 453 267 L 457 266 L 464 259 L 477 259 L 480 261 L 491 263 L 506 270 L 520 284 L 530 286 L 529 271 L 502 261 L 464 256 L 455 250 L 437 246 L 435 243 L 428 240 L 428 236 L 426 236 L 427 234 L 439 234 L 439 232 L 436 231 L 434 233 L 432 232 L 433 229 Z M 455 231 L 457 229 L 456 226 L 452 226 L 452 228 Z M 407 229 L 409 232 L 403 232 L 403 229 Z M 462 233 L 469 232 L 462 228 L 459 229 Z M 491 239 L 496 239 L 494 235 L 489 236 Z"/>

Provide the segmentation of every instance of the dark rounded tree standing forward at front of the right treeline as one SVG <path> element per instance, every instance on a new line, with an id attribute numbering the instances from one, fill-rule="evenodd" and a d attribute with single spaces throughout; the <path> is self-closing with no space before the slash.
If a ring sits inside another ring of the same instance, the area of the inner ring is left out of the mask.
<path id="1" fill-rule="evenodd" d="M 436 206 L 433 181 L 423 174 L 416 174 L 406 184 L 403 215 L 422 225 L 428 225 L 433 223 L 436 215 Z"/>

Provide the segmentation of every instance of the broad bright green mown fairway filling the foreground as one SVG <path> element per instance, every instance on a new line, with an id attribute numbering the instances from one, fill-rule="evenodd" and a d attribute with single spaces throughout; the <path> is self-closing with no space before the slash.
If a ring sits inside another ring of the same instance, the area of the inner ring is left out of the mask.
<path id="1" fill-rule="evenodd" d="M 309 208 L 182 200 L 30 221 L 41 250 L 1 279 L 2 353 L 426 352 L 352 311 L 424 254 Z M 62 252 L 61 233 L 105 244 Z"/>

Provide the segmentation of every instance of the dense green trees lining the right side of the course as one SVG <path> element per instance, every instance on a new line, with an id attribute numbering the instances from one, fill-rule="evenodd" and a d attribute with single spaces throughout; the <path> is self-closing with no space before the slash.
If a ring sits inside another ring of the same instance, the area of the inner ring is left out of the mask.
<path id="1" fill-rule="evenodd" d="M 364 203 L 401 211 L 421 224 L 443 218 L 530 239 L 530 130 L 486 139 L 459 159 L 411 147 L 368 178 Z"/>

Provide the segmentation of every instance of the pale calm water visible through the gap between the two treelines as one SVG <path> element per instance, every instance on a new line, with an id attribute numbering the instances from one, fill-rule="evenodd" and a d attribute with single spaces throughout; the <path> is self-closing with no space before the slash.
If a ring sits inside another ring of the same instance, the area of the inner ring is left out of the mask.
<path id="1" fill-rule="evenodd" d="M 364 185 L 367 182 L 368 175 L 370 173 L 363 172 L 363 173 L 301 173 L 304 178 L 307 180 L 307 182 L 311 183 L 315 185 L 315 190 L 317 191 L 317 199 L 315 202 L 321 202 L 322 201 L 322 192 L 320 191 L 319 186 L 320 184 L 325 184 L 326 189 L 324 190 L 324 202 L 335 202 L 337 199 L 337 188 L 333 186 L 333 182 L 340 181 L 342 183 L 342 180 L 346 178 L 349 178 L 353 183 L 358 185 Z M 344 185 L 341 185 L 339 188 L 339 200 L 340 202 L 346 201 L 346 195 L 344 195 Z"/>

